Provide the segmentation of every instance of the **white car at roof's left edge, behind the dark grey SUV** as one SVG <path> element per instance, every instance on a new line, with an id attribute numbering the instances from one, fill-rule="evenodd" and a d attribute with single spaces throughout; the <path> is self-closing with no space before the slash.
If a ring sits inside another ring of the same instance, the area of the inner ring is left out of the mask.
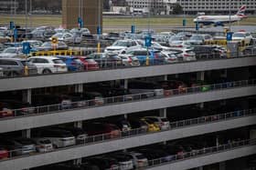
<path id="1" fill-rule="evenodd" d="M 7 47 L 0 53 L 2 58 L 25 58 L 26 55 L 22 53 L 22 47 Z"/>

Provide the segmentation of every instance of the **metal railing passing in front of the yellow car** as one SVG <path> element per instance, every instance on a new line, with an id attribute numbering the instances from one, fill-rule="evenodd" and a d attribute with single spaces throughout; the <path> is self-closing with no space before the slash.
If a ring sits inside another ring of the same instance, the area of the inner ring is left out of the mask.
<path id="1" fill-rule="evenodd" d="M 76 145 L 66 146 L 64 148 L 68 149 L 70 147 L 77 147 L 77 146 L 81 146 L 81 145 L 92 145 L 92 144 L 96 144 L 96 143 L 107 142 L 110 140 L 118 140 L 118 139 L 127 138 L 127 137 L 134 137 L 134 136 L 138 136 L 138 135 L 161 133 L 161 132 L 165 132 L 165 131 L 172 131 L 172 130 L 175 130 L 175 129 L 181 128 L 181 127 L 187 127 L 190 125 L 210 124 L 210 123 L 213 123 L 216 121 L 227 121 L 230 119 L 237 119 L 237 118 L 241 118 L 241 117 L 245 117 L 245 116 L 252 116 L 255 114 L 256 114 L 256 108 L 251 108 L 251 109 L 229 112 L 229 113 L 225 113 L 225 114 L 208 115 L 208 116 L 197 117 L 194 119 L 187 119 L 187 120 L 183 120 L 183 121 L 173 122 L 173 123 L 170 123 L 169 128 L 167 128 L 165 130 L 161 130 L 161 131 L 156 131 L 156 132 L 148 132 L 147 129 L 145 129 L 145 128 L 135 128 L 135 129 L 126 130 L 126 131 L 114 131 L 112 133 L 102 134 L 102 135 L 91 135 L 91 136 L 86 136 L 83 139 L 77 139 Z M 47 137 L 44 137 L 44 138 L 47 138 Z M 9 153 L 8 158 L 12 159 L 16 156 L 44 154 L 47 152 L 53 152 L 53 151 L 59 150 L 59 148 L 55 148 L 54 150 L 36 153 L 36 148 L 41 148 L 41 147 L 40 147 L 40 145 L 35 145 L 34 148 L 35 149 L 28 154 L 22 154 L 23 151 L 25 151 L 24 149 L 10 150 L 10 151 L 8 151 L 8 153 Z M 61 149 L 63 149 L 63 147 Z M 180 155 L 178 155 L 178 156 L 180 156 Z M 176 157 L 176 158 L 178 158 L 178 157 Z M 158 162 L 159 162 L 159 160 L 157 159 Z M 174 159 L 174 160 L 176 160 L 176 159 Z M 154 163 L 155 160 L 153 160 L 152 162 Z M 160 162 L 160 163 L 162 163 L 162 162 Z M 149 164 L 149 165 L 151 165 L 151 164 Z"/>

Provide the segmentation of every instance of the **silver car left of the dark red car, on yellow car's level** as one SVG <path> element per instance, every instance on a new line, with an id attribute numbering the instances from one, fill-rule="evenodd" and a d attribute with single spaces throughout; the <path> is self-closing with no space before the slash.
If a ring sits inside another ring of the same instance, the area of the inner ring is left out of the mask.
<path id="1" fill-rule="evenodd" d="M 44 137 L 50 140 L 54 148 L 66 147 L 69 145 L 75 145 L 76 139 L 67 130 L 59 128 L 44 128 L 37 132 L 37 137 Z"/>

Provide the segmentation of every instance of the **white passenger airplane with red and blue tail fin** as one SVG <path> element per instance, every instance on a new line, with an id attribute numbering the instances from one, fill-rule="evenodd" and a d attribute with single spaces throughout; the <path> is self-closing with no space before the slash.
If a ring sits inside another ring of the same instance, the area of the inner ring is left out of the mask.
<path id="1" fill-rule="evenodd" d="M 230 15 L 230 23 L 240 21 L 246 18 L 244 15 L 246 6 L 242 5 L 236 15 Z M 199 15 L 194 19 L 194 23 L 199 25 L 214 25 L 214 26 L 224 26 L 224 24 L 229 24 L 229 15 Z"/>

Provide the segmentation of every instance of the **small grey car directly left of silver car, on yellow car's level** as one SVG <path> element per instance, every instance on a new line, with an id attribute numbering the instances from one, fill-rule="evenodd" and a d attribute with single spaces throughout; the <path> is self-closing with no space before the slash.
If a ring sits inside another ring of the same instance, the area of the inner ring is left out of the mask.
<path id="1" fill-rule="evenodd" d="M 46 153 L 53 151 L 53 145 L 48 138 L 33 138 L 32 140 L 34 140 L 37 145 L 37 152 Z"/>

